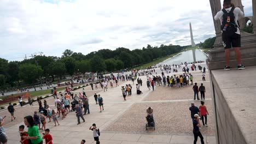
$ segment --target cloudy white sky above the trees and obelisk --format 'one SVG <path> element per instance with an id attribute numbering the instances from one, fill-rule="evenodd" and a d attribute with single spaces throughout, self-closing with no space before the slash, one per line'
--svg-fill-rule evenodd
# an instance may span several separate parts
<path id="1" fill-rule="evenodd" d="M 242 3 L 252 15 L 252 1 Z M 1 0 L 0 57 L 189 45 L 189 22 L 195 43 L 214 37 L 208 0 Z"/>

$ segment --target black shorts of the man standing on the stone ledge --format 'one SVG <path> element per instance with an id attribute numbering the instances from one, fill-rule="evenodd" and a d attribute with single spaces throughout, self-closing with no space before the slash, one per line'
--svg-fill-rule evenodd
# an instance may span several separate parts
<path id="1" fill-rule="evenodd" d="M 230 49 L 231 47 L 241 47 L 241 35 L 237 33 L 222 33 L 222 41 L 224 49 Z"/>

